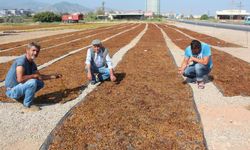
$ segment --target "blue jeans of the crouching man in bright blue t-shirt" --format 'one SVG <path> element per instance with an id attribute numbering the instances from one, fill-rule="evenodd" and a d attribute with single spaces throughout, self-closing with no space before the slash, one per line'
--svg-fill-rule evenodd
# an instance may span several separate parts
<path id="1" fill-rule="evenodd" d="M 197 81 L 203 81 L 205 75 L 208 75 L 211 69 L 207 65 L 193 64 L 188 66 L 183 73 L 183 76 L 188 78 L 196 78 Z"/>

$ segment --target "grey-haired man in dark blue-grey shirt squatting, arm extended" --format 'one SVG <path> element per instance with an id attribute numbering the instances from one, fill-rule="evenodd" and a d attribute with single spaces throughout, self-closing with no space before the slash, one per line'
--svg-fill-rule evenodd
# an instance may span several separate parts
<path id="1" fill-rule="evenodd" d="M 28 44 L 26 54 L 17 58 L 9 69 L 5 78 L 6 95 L 12 99 L 24 98 L 26 110 L 38 111 L 40 107 L 32 105 L 35 93 L 43 88 L 43 80 L 61 77 L 60 74 L 42 75 L 34 62 L 40 52 L 40 45 L 32 42 Z"/>

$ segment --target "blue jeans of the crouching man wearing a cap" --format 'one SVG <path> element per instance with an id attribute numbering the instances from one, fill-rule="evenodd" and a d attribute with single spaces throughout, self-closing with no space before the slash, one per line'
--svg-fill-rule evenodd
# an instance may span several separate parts
<path id="1" fill-rule="evenodd" d="M 87 69 L 86 69 L 87 71 Z M 92 75 L 92 81 L 96 81 L 96 78 L 95 78 L 95 75 L 98 73 L 98 78 L 100 81 L 104 81 L 106 79 L 108 79 L 110 77 L 110 70 L 107 68 L 107 67 L 100 67 L 100 68 L 97 68 L 97 67 L 92 67 L 91 66 L 91 75 Z"/>

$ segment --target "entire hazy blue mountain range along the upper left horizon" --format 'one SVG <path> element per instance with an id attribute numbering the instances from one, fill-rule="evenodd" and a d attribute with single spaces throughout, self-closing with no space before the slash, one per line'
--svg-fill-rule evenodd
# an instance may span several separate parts
<path id="1" fill-rule="evenodd" d="M 0 0 L 1 9 L 31 9 L 34 12 L 52 11 L 56 13 L 89 12 L 91 9 L 70 2 L 55 4 L 42 3 L 35 0 Z"/>

